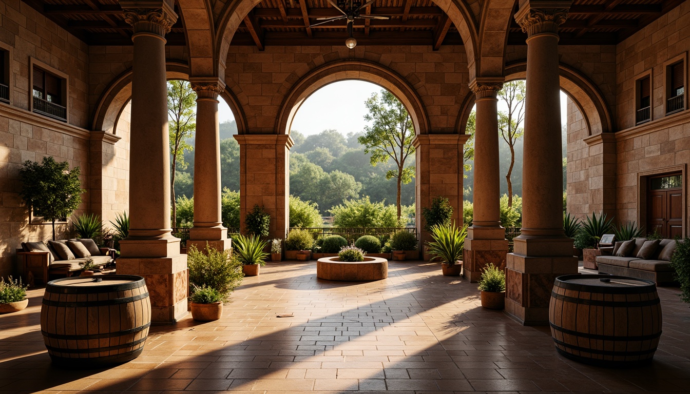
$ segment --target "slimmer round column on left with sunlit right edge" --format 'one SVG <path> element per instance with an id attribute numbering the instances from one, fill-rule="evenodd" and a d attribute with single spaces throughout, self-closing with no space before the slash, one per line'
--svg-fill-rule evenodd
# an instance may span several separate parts
<path id="1" fill-rule="evenodd" d="M 194 226 L 188 245 L 199 250 L 206 243 L 218 250 L 230 248 L 228 229 L 221 219 L 220 136 L 218 95 L 224 83 L 218 78 L 190 78 L 197 92 L 197 130 L 194 155 Z"/>

